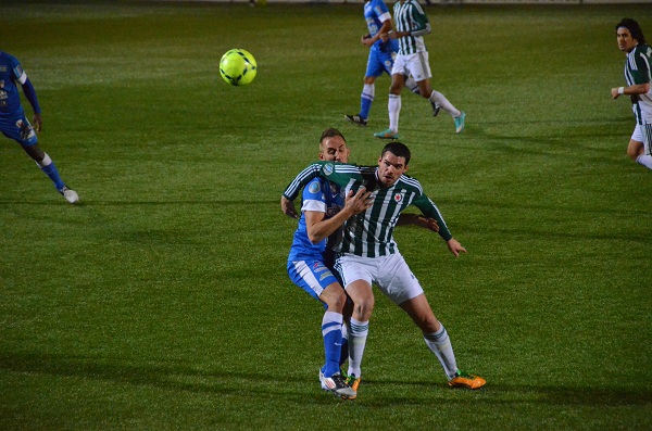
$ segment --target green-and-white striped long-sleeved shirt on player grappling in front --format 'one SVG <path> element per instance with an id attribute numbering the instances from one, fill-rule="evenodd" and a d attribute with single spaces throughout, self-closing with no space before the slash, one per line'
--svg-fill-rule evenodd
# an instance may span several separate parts
<path id="1" fill-rule="evenodd" d="M 398 251 L 393 229 L 399 216 L 410 205 L 415 205 L 426 217 L 439 225 L 439 234 L 446 241 L 453 238 L 439 208 L 424 193 L 421 183 L 408 175 L 402 175 L 391 187 L 378 182 L 377 166 L 356 166 L 334 162 L 317 162 L 303 169 L 286 188 L 284 195 L 294 200 L 299 191 L 315 177 L 322 177 L 342 187 L 346 193 L 365 187 L 373 191 L 373 205 L 347 220 L 336 252 L 352 253 L 363 257 L 378 257 Z"/>

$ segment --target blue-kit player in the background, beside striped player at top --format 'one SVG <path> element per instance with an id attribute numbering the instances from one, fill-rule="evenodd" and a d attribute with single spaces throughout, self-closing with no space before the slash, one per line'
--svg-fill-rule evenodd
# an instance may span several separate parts
<path id="1" fill-rule="evenodd" d="M 367 24 L 368 34 L 361 38 L 362 45 L 369 49 L 367 58 L 367 68 L 364 76 L 364 86 L 360 96 L 360 112 L 355 115 L 344 115 L 344 118 L 360 126 L 366 126 L 372 109 L 372 102 L 376 94 L 376 78 L 387 73 L 391 75 L 393 59 L 399 51 L 399 42 L 396 39 L 383 41 L 381 34 L 391 30 L 391 15 L 389 9 L 383 0 L 366 0 L 364 3 L 364 20 Z M 411 77 L 405 81 L 408 87 L 415 94 L 419 94 L 416 81 Z M 431 102 L 432 115 L 439 113 L 439 105 Z"/>

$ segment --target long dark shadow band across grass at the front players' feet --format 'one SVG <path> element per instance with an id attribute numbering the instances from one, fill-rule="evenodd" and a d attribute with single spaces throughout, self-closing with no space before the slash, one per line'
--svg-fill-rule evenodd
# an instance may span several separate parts
<path id="1" fill-rule="evenodd" d="M 150 386 L 221 396 L 242 396 L 248 400 L 278 396 L 300 404 L 323 404 L 328 396 L 315 392 L 316 380 L 279 381 L 278 376 L 261 372 L 198 370 L 185 364 L 121 364 L 121 359 L 75 357 L 46 354 L 0 353 L 0 369 L 27 375 L 48 375 L 85 380 L 111 381 L 134 386 Z M 283 384 L 279 384 L 283 383 Z M 87 382 L 84 384 L 88 384 Z M 442 382 L 406 380 L 365 380 L 360 390 L 367 392 L 364 403 L 431 404 L 432 398 L 446 404 L 548 404 L 551 406 L 642 406 L 652 402 L 652 391 L 611 388 L 563 388 L 515 385 L 489 381 L 478 391 L 453 390 Z M 414 394 L 414 395 L 412 395 Z M 450 395 L 449 395 L 450 394 Z"/>

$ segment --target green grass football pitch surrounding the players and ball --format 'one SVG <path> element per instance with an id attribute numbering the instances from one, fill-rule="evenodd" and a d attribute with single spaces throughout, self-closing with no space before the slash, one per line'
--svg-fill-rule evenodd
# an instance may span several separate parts
<path id="1" fill-rule="evenodd" d="M 52 2 L 53 3 L 53 2 Z M 396 232 L 446 324 L 452 391 L 380 294 L 359 398 L 319 390 L 322 309 L 285 271 L 285 186 L 340 128 L 375 163 L 389 78 L 360 103 L 360 5 L 3 2 L 0 49 L 34 83 L 71 206 L 0 145 L 0 429 L 652 429 L 652 172 L 614 25 L 652 7 L 431 7 L 434 87 L 467 129 L 403 96 L 401 140 L 469 254 Z M 223 52 L 252 52 L 244 88 Z"/>

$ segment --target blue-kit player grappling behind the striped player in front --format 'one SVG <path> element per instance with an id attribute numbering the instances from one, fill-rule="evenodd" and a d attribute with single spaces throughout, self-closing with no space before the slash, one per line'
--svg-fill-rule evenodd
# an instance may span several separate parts
<path id="1" fill-rule="evenodd" d="M 326 129 L 322 134 L 319 159 L 331 162 L 349 160 L 347 142 L 338 130 Z M 288 275 L 294 284 L 321 301 L 326 308 L 322 319 L 326 358 L 319 370 L 322 388 L 342 398 L 353 400 L 356 392 L 340 373 L 347 294 L 330 270 L 334 253 L 328 242 L 330 236 L 337 237 L 340 226 L 349 217 L 368 207 L 368 193 L 361 189 L 344 199 L 339 186 L 315 178 L 303 189 L 302 201 L 299 227 L 288 256 Z"/>

